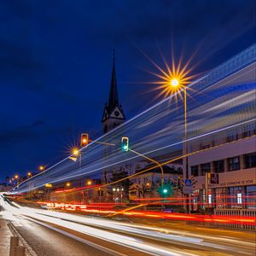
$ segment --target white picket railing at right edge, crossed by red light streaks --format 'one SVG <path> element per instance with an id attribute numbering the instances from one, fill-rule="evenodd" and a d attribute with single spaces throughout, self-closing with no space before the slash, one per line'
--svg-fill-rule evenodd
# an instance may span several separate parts
<path id="1" fill-rule="evenodd" d="M 226 216 L 226 220 L 228 220 L 225 223 L 215 223 L 215 227 L 223 227 L 223 228 L 229 228 L 229 229 L 235 229 L 235 230 L 256 230 L 255 221 L 250 224 L 249 222 L 236 223 L 236 221 L 233 221 L 233 218 L 250 218 L 251 220 L 256 218 L 256 209 L 215 209 L 214 210 L 215 215 L 221 216 L 224 218 Z M 230 220 L 230 222 L 229 222 Z"/>

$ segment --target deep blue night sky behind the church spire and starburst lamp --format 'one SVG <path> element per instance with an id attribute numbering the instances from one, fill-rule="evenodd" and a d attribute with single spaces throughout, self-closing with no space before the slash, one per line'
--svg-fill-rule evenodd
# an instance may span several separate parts
<path id="1" fill-rule="evenodd" d="M 112 49 L 127 118 L 154 103 L 143 81 L 183 48 L 195 73 L 256 42 L 254 0 L 0 3 L 0 182 L 67 155 L 80 132 L 102 133 Z M 132 103 L 131 103 L 132 102 Z"/>

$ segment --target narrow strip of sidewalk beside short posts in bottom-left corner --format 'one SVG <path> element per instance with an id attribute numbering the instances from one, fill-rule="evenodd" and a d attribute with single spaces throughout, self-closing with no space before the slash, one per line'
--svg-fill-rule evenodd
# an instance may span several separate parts
<path id="1" fill-rule="evenodd" d="M 5 219 L 0 215 L 0 256 L 9 256 L 9 241 L 12 236 Z"/>

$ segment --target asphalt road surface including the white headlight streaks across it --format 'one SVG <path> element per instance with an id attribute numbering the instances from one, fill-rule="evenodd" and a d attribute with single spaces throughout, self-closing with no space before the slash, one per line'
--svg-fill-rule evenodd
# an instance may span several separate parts
<path id="1" fill-rule="evenodd" d="M 255 255 L 255 241 L 247 232 L 223 236 L 209 229 L 127 224 L 0 203 L 5 218 L 38 255 Z"/>

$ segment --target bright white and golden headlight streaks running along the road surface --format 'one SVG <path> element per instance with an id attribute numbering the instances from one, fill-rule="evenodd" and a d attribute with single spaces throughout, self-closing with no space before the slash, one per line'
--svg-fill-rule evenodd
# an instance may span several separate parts
<path id="1" fill-rule="evenodd" d="M 198 255 L 198 250 L 227 254 L 236 253 L 239 250 L 241 254 L 252 254 L 254 248 L 253 241 L 239 241 L 227 236 L 199 234 L 196 231 L 150 227 L 143 224 L 128 224 L 102 218 L 88 218 L 65 212 L 20 207 L 16 204 L 13 207 L 8 202 L 3 201 L 2 196 L 0 196 L 0 204 L 4 208 L 4 212 L 8 212 L 5 216 L 13 218 L 14 221 L 20 222 L 20 218 L 25 217 L 41 224 L 49 224 L 49 226 L 54 227 L 57 225 L 58 229 L 75 230 L 113 244 L 131 247 L 153 255 Z M 147 212 L 146 214 L 152 218 L 159 215 L 159 213 L 151 213 Z M 182 214 L 176 215 L 180 218 L 183 217 Z M 194 217 L 190 216 L 189 218 L 193 219 Z M 207 216 L 203 218 L 207 220 Z M 183 249 L 184 245 L 190 248 L 189 253 Z"/>

